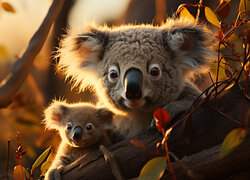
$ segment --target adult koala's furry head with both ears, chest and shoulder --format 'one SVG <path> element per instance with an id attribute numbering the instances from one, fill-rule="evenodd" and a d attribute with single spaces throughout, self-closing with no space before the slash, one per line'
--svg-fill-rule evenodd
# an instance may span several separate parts
<path id="1" fill-rule="evenodd" d="M 125 112 L 114 123 L 128 138 L 150 127 L 155 109 L 174 118 L 190 107 L 200 91 L 188 77 L 208 69 L 213 40 L 202 25 L 173 18 L 161 26 L 72 30 L 61 41 L 58 68 L 81 90 L 92 87 L 103 104 Z"/>

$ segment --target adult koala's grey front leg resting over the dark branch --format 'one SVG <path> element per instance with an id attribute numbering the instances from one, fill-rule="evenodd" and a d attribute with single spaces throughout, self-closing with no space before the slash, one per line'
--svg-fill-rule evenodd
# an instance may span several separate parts
<path id="1" fill-rule="evenodd" d="M 191 84 L 187 84 L 175 101 L 165 105 L 163 109 L 167 110 L 171 117 L 171 123 L 169 123 L 167 127 L 174 123 L 174 120 L 176 120 L 178 115 L 186 112 L 200 94 L 201 92 L 196 87 Z M 150 125 L 150 131 L 154 132 L 155 130 L 156 125 L 155 120 L 153 119 Z"/>

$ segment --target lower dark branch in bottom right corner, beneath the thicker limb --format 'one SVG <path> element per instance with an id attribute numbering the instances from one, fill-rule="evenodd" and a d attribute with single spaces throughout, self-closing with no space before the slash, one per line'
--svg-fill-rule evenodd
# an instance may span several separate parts
<path id="1" fill-rule="evenodd" d="M 192 172 L 195 179 L 224 179 L 235 176 L 241 178 L 242 173 L 249 174 L 250 170 L 250 134 L 229 155 L 219 159 L 221 145 L 203 150 L 199 153 L 185 156 L 181 162 Z M 187 179 L 187 175 L 177 163 L 172 163 L 177 179 Z M 164 179 L 171 179 L 167 172 Z"/>

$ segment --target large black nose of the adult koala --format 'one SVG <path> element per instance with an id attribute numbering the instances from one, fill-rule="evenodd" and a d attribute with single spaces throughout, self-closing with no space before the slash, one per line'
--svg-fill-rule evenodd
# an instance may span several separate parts
<path id="1" fill-rule="evenodd" d="M 140 99 L 142 97 L 142 72 L 131 68 L 125 73 L 124 85 L 127 99 Z"/>

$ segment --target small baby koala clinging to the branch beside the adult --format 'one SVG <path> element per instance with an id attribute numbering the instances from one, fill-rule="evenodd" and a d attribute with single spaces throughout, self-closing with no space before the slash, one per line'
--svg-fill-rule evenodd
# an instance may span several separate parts
<path id="1" fill-rule="evenodd" d="M 67 104 L 54 101 L 45 110 L 47 129 L 60 133 L 62 142 L 45 179 L 61 179 L 64 166 L 82 155 L 94 151 L 101 144 L 111 144 L 105 129 L 111 126 L 113 113 L 89 103 Z"/>

